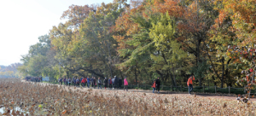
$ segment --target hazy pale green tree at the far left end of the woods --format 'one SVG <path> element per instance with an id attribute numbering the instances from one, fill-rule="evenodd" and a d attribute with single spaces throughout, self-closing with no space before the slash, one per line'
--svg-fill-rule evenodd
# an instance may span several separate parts
<path id="1" fill-rule="evenodd" d="M 23 65 L 18 70 L 25 74 L 24 76 L 51 76 L 55 78 L 55 59 L 50 55 L 54 50 L 51 48 L 49 35 L 40 36 L 39 43 L 30 47 L 29 53 L 23 55 L 21 61 Z"/>

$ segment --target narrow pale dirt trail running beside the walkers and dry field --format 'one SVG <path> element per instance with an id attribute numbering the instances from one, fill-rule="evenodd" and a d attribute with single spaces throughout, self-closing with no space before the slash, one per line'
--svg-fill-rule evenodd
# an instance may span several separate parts
<path id="1" fill-rule="evenodd" d="M 23 81 L 22 82 L 26 82 Z M 27 83 L 27 82 L 26 82 Z M 44 84 L 44 85 L 59 85 L 59 84 L 48 84 L 48 83 L 37 83 L 37 84 Z M 60 86 L 60 85 L 59 85 Z M 67 87 L 66 85 L 61 85 L 63 88 L 64 86 Z M 69 88 L 71 90 L 82 90 L 82 91 L 87 91 L 89 90 L 89 88 L 84 87 L 84 88 L 80 88 L 80 87 L 74 87 L 74 86 L 69 86 Z M 75 89 L 76 88 L 76 89 Z M 90 87 L 91 90 L 99 90 L 101 91 L 101 89 L 93 89 L 92 87 Z M 102 87 L 102 90 L 105 90 L 104 87 Z M 108 88 L 106 90 L 109 90 Z M 113 90 L 113 91 L 124 91 L 123 89 L 120 90 Z M 127 92 L 141 92 L 141 93 L 152 93 L 152 90 L 128 90 Z M 157 91 L 154 91 L 155 94 L 158 94 Z M 153 93 L 152 93 L 153 94 Z M 220 95 L 220 94 L 203 94 L 203 93 L 193 93 L 191 95 L 188 94 L 188 92 L 176 92 L 176 91 L 165 91 L 165 90 L 160 90 L 160 94 L 168 94 L 168 95 L 175 95 L 175 96 L 197 96 L 197 97 L 210 97 L 210 98 L 221 98 L 221 99 L 227 99 L 227 100 L 236 100 L 236 95 Z M 256 102 L 256 98 L 251 98 L 250 101 Z"/>

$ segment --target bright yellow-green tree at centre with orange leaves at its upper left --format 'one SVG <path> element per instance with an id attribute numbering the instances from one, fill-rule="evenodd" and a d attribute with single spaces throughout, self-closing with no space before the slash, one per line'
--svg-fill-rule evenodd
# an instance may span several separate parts
<path id="1" fill-rule="evenodd" d="M 153 73 L 158 73 L 164 82 L 171 79 L 176 85 L 175 72 L 182 68 L 174 62 L 183 60 L 186 54 L 179 49 L 181 44 L 172 40 L 177 34 L 175 20 L 171 20 L 169 14 L 154 13 L 151 10 L 154 7 L 145 4 L 127 11 L 116 22 L 118 34 L 114 38 L 119 42 L 119 55 L 123 61 L 119 68 L 126 73 L 133 71 L 136 80 L 137 72 L 148 75 L 150 80 Z M 181 54 L 177 55 L 176 51 Z"/>

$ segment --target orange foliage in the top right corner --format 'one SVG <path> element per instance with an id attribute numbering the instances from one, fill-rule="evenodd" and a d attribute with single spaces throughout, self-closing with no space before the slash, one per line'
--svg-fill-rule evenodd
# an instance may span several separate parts
<path id="1" fill-rule="evenodd" d="M 240 45 L 256 43 L 256 1 L 255 0 L 224 0 L 224 10 L 230 12 L 230 17 L 233 20 L 237 38 L 242 38 Z M 244 26 L 247 24 L 247 26 Z"/>

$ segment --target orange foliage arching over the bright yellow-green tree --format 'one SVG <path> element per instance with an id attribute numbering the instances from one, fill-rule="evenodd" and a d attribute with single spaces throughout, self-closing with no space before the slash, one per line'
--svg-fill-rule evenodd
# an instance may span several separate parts
<path id="1" fill-rule="evenodd" d="M 118 49 L 125 49 L 129 45 L 125 44 L 125 41 L 132 39 L 131 34 L 137 33 L 139 27 L 136 23 L 130 20 L 131 15 L 135 13 L 140 13 L 144 18 L 148 18 L 148 14 L 145 14 L 146 7 L 149 7 L 153 13 L 163 13 L 168 14 L 177 20 L 177 32 L 182 35 L 179 36 L 177 41 L 185 43 L 187 37 L 190 33 L 204 31 L 207 27 L 205 23 L 205 15 L 198 14 L 196 3 L 191 3 L 188 7 L 180 5 L 179 0 L 154 0 L 154 3 L 142 3 L 134 9 L 131 9 L 130 12 L 126 12 L 118 20 L 116 20 L 115 32 L 122 33 L 116 36 L 113 36 L 119 43 Z M 223 14 L 222 17 L 225 15 Z M 188 46 L 188 44 L 183 44 Z"/>

